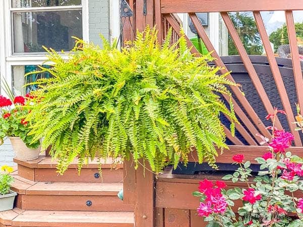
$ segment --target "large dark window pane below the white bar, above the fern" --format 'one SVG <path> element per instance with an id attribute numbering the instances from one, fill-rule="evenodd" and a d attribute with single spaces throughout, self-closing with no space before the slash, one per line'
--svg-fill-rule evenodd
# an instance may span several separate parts
<path id="1" fill-rule="evenodd" d="M 82 38 L 82 11 L 13 13 L 14 52 L 43 52 L 42 45 L 57 51 L 71 50 L 72 36 Z"/>

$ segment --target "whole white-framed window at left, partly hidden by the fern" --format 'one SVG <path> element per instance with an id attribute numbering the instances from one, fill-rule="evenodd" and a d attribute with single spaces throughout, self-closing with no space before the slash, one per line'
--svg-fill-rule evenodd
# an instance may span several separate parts
<path id="1" fill-rule="evenodd" d="M 24 77 L 46 60 L 43 46 L 61 53 L 73 48 L 73 36 L 89 40 L 88 17 L 88 0 L 0 0 L 0 73 L 16 95 L 36 89 L 27 82 L 50 76 Z"/>

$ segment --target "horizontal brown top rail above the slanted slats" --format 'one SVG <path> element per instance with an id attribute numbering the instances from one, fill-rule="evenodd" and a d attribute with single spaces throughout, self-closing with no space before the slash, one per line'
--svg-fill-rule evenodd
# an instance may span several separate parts
<path id="1" fill-rule="evenodd" d="M 303 10 L 302 0 L 162 0 L 161 12 L 207 13 L 207 12 L 244 12 Z"/>

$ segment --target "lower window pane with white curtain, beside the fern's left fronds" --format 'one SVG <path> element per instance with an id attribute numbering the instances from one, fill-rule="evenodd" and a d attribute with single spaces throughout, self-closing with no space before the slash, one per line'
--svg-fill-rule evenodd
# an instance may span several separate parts
<path id="1" fill-rule="evenodd" d="M 49 68 L 50 66 L 43 65 L 44 68 Z M 41 78 L 50 78 L 52 75 L 48 72 L 36 73 L 24 77 L 25 74 L 40 71 L 40 68 L 36 65 L 27 66 L 13 66 L 13 92 L 15 95 L 25 95 L 31 91 L 37 90 L 37 85 L 28 85 L 24 87 L 25 84 L 32 83 Z"/>

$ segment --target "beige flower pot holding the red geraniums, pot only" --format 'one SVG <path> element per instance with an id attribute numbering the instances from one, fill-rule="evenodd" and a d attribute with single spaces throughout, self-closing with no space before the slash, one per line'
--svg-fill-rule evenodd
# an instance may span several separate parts
<path id="1" fill-rule="evenodd" d="M 16 158 L 20 161 L 30 161 L 38 158 L 41 146 L 36 149 L 28 148 L 20 137 L 9 137 L 16 153 Z"/>

